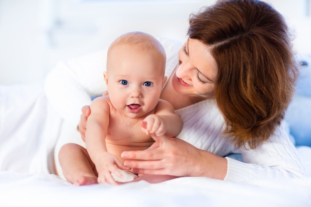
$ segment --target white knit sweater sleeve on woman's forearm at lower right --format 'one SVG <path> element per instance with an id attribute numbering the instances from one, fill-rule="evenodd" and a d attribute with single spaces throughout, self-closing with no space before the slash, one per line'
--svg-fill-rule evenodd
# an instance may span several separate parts
<path id="1" fill-rule="evenodd" d="M 284 130 L 284 124 L 281 124 L 274 135 L 256 149 L 239 148 L 238 152 L 242 154 L 244 162 L 226 157 L 227 181 L 248 182 L 253 179 L 308 177 L 295 146 Z"/>

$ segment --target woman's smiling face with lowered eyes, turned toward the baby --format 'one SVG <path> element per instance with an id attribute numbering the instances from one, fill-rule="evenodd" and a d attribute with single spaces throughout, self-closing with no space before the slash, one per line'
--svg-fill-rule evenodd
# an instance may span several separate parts
<path id="1" fill-rule="evenodd" d="M 210 47 L 188 38 L 179 50 L 179 66 L 172 75 L 172 86 L 178 93 L 212 98 L 217 76 L 217 64 Z"/>

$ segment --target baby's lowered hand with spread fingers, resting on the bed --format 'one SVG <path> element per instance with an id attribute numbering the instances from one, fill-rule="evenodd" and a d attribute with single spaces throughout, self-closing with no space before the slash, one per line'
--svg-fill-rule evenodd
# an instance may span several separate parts
<path id="1" fill-rule="evenodd" d="M 117 182 L 113 179 L 112 174 L 115 177 L 123 178 L 120 169 L 127 169 L 124 167 L 117 157 L 110 154 L 109 152 L 105 152 L 101 161 L 96 164 L 96 170 L 98 172 L 98 183 L 109 183 L 112 185 L 118 185 Z"/>

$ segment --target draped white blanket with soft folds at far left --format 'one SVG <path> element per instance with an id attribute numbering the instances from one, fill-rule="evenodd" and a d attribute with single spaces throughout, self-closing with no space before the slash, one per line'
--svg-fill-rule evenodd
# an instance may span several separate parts
<path id="1" fill-rule="evenodd" d="M 43 87 L 0 86 L 0 170 L 53 172 L 54 145 L 62 119 Z"/>

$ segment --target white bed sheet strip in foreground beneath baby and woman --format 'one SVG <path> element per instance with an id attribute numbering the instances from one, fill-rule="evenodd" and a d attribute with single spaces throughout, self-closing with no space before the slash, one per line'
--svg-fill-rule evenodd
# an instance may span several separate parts
<path id="1" fill-rule="evenodd" d="M 244 184 L 187 177 L 78 187 L 55 175 L 0 172 L 0 195 L 1 207 L 310 207 L 311 179 Z"/>

